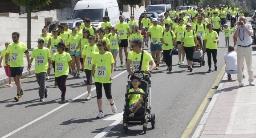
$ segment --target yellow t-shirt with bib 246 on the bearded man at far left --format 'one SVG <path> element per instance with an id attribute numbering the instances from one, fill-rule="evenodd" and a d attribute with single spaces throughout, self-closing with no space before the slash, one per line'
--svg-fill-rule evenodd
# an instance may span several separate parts
<path id="1" fill-rule="evenodd" d="M 23 53 L 27 49 L 22 42 L 9 44 L 6 53 L 10 55 L 10 67 L 24 67 Z"/>

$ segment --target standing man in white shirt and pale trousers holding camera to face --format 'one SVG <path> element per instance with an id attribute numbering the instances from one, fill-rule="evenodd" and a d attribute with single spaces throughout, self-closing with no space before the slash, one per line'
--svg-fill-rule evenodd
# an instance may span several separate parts
<path id="1" fill-rule="evenodd" d="M 244 86 L 244 80 L 243 80 L 243 63 L 244 58 L 247 66 L 248 71 L 248 81 L 249 85 L 254 86 L 254 75 L 252 71 L 252 25 L 246 24 L 246 18 L 244 16 L 241 16 L 240 21 L 237 22 L 237 26 L 234 29 L 235 37 L 237 38 L 237 80 L 239 82 L 239 86 Z"/>

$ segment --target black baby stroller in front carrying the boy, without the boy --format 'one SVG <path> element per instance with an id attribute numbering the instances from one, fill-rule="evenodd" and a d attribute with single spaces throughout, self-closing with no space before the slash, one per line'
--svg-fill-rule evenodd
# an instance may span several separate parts
<path id="1" fill-rule="evenodd" d="M 124 106 L 124 113 L 123 113 L 123 129 L 124 132 L 127 133 L 128 131 L 128 125 L 143 125 L 144 133 L 146 133 L 147 130 L 147 124 L 148 122 L 151 122 L 152 129 L 155 128 L 155 115 L 151 114 L 150 110 L 150 97 L 151 97 L 151 75 L 148 75 L 148 78 L 145 80 L 145 76 L 143 75 L 144 71 L 136 71 L 134 75 L 143 76 L 141 79 L 141 84 L 139 85 L 139 88 L 141 88 L 145 93 L 142 92 L 130 92 L 130 94 L 141 94 L 144 95 L 144 103 L 142 103 L 142 107 L 138 110 L 137 113 L 134 114 L 134 117 L 129 117 L 129 114 L 131 111 L 129 110 L 129 102 L 130 99 L 128 97 L 128 91 L 129 89 L 133 88 L 133 85 L 130 81 L 130 75 L 128 75 L 128 80 L 126 83 L 126 95 L 125 95 L 125 106 Z"/>

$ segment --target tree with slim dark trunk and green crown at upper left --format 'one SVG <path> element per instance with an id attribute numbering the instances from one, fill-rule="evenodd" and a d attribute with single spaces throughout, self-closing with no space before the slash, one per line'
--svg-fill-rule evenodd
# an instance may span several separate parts
<path id="1" fill-rule="evenodd" d="M 28 22 L 28 32 L 27 32 L 27 47 L 31 49 L 31 12 L 37 9 L 49 5 L 50 0 L 12 0 L 16 5 L 26 8 L 27 11 L 27 22 Z"/>

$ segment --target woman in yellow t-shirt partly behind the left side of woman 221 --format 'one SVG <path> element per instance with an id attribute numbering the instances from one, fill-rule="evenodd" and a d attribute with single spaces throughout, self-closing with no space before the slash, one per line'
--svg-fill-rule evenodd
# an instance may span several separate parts
<path id="1" fill-rule="evenodd" d="M 85 100 L 90 100 L 92 99 L 91 96 L 91 88 L 92 85 L 89 83 L 90 76 L 91 76 L 91 70 L 92 70 L 92 58 L 93 55 L 98 52 L 98 47 L 96 46 L 96 42 L 98 41 L 98 38 L 94 35 L 89 35 L 88 36 L 89 44 L 85 45 L 84 50 L 82 52 L 82 59 L 84 63 L 84 68 L 85 68 L 85 75 L 86 75 L 86 87 L 88 91 L 88 95 Z"/>

